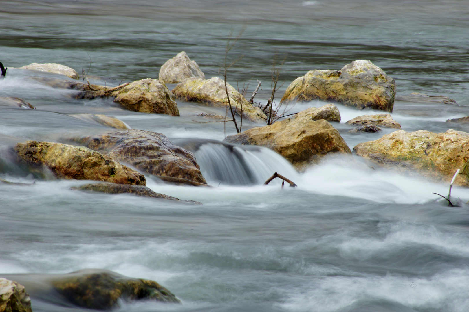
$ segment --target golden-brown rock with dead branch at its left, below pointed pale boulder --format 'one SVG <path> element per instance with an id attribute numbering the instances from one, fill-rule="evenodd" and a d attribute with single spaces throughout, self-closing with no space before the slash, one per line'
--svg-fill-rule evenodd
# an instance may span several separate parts
<path id="1" fill-rule="evenodd" d="M 159 80 L 151 78 L 137 80 L 114 91 L 111 95 L 115 97 L 114 102 L 129 110 L 179 116 L 174 95 Z"/>

